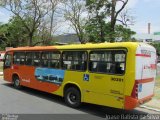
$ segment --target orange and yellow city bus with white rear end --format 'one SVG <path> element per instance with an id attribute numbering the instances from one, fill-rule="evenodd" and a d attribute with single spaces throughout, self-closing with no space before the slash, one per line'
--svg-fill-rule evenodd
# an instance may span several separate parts
<path id="1" fill-rule="evenodd" d="M 62 96 L 74 108 L 131 110 L 152 99 L 156 62 L 155 48 L 138 42 L 18 47 L 5 54 L 4 80 Z"/>

